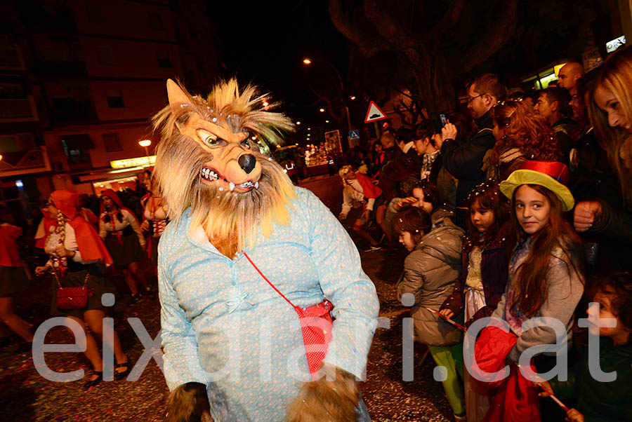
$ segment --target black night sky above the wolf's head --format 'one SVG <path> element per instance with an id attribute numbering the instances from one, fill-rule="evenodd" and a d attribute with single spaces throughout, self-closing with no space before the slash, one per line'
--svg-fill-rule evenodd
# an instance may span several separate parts
<path id="1" fill-rule="evenodd" d="M 213 1 L 208 7 L 218 27 L 223 76 L 261 86 L 283 103 L 280 110 L 306 124 L 322 120 L 308 86 L 319 72 L 331 79 L 333 71 L 317 60 L 334 64 L 343 80 L 348 67 L 348 41 L 331 23 L 327 1 Z"/>

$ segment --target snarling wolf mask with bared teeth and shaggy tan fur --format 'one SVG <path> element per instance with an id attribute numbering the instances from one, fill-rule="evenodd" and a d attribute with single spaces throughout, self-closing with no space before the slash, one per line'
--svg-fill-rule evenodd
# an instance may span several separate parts
<path id="1" fill-rule="evenodd" d="M 263 236 L 274 224 L 289 223 L 294 189 L 254 139 L 277 144 L 289 118 L 265 111 L 267 95 L 237 81 L 219 83 L 206 100 L 167 81 L 169 105 L 154 116 L 161 134 L 154 172 L 169 215 L 179 219 L 190 208 L 190 231 L 204 229 L 209 241 L 229 258 Z"/>

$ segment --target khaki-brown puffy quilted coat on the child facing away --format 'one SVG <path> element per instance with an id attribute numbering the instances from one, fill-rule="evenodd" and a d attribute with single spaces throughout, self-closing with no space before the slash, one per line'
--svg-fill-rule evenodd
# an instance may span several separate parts
<path id="1" fill-rule="evenodd" d="M 437 219 L 404 261 L 404 276 L 397 285 L 397 298 L 412 293 L 415 340 L 428 346 L 451 346 L 461 341 L 461 332 L 428 311 L 439 307 L 454 290 L 461 272 L 463 231 L 448 217 Z"/>

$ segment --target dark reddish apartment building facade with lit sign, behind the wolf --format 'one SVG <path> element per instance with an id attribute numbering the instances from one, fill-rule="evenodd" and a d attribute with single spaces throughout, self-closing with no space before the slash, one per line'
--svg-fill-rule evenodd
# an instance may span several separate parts
<path id="1" fill-rule="evenodd" d="M 203 1 L 15 0 L 0 13 L 15 16 L 0 34 L 0 200 L 13 208 L 117 189 L 139 170 L 131 159 L 152 155 L 166 79 L 218 77 Z"/>

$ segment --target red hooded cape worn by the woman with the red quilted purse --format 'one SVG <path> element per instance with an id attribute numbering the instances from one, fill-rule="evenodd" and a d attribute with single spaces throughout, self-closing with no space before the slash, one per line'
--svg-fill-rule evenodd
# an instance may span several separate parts
<path id="1" fill-rule="evenodd" d="M 51 198 L 53 198 L 55 207 L 61 211 L 67 218 L 68 224 L 74 229 L 74 236 L 77 238 L 77 247 L 79 247 L 79 252 L 81 252 L 81 258 L 85 261 L 98 259 L 103 264 L 112 264 L 114 261 L 110 257 L 110 252 L 107 252 L 103 240 L 101 240 L 94 227 L 79 214 L 80 194 L 70 189 L 62 189 L 51 193 Z"/>

